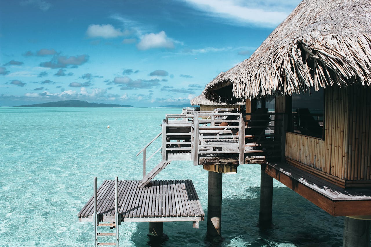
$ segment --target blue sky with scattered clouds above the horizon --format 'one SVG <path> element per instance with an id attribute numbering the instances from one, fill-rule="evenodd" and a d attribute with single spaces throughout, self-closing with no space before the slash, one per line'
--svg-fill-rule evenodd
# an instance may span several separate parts
<path id="1" fill-rule="evenodd" d="M 0 106 L 188 103 L 299 2 L 0 0 Z"/>

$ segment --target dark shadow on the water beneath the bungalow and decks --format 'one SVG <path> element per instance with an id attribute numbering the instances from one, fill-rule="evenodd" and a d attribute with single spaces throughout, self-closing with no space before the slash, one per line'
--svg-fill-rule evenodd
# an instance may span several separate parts
<path id="1" fill-rule="evenodd" d="M 226 185 L 224 185 L 226 186 Z M 200 228 L 192 222 L 165 222 L 165 242 L 148 242 L 148 223 L 138 223 L 131 236 L 135 246 L 341 246 L 343 217 L 332 217 L 287 187 L 273 188 L 273 225 L 260 228 L 260 187 L 247 187 L 246 195 L 223 198 L 221 231 L 223 241 L 206 237 L 206 219 Z M 200 198 L 207 200 L 207 198 Z"/>

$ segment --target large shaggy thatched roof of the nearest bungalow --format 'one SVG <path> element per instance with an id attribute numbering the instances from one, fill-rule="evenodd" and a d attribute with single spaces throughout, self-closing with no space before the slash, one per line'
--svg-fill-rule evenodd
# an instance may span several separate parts
<path id="1" fill-rule="evenodd" d="M 303 0 L 249 59 L 203 93 L 233 102 L 352 83 L 371 83 L 371 1 Z"/>

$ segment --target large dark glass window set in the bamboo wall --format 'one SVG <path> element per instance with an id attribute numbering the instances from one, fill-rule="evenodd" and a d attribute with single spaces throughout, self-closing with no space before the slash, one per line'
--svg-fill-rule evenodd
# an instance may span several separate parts
<path id="1" fill-rule="evenodd" d="M 324 136 L 324 90 L 292 95 L 291 131 L 303 135 Z"/>

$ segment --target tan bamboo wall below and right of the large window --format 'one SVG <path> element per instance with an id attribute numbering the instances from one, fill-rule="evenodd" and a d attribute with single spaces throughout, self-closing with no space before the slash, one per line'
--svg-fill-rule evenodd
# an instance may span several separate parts
<path id="1" fill-rule="evenodd" d="M 343 180 L 370 180 L 371 88 L 325 90 L 324 140 L 286 133 L 285 156 Z"/>

